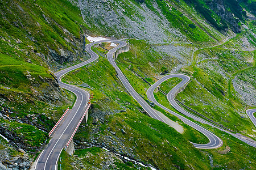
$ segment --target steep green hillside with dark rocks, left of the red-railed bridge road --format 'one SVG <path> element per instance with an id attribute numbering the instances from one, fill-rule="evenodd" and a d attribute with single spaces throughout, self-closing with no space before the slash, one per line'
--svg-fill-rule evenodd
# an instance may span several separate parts
<path id="1" fill-rule="evenodd" d="M 68 1 L 0 1 L 0 132 L 11 144 L 1 148 L 1 162 L 19 148 L 34 157 L 72 106 L 73 94 L 60 89 L 50 67 L 83 59 L 76 54 L 84 27 L 79 14 Z M 29 156 L 20 158 L 31 163 Z"/>

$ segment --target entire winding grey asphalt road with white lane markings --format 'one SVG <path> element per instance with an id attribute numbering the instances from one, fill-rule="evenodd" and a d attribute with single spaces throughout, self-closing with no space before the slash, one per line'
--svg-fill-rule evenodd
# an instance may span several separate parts
<path id="1" fill-rule="evenodd" d="M 55 76 L 60 84 L 60 87 L 65 88 L 71 92 L 73 92 L 76 95 L 76 102 L 73 105 L 73 108 L 65 114 L 64 118 L 61 120 L 59 124 L 59 128 L 57 128 L 53 135 L 51 140 L 49 141 L 48 145 L 46 148 L 41 152 L 41 154 L 38 156 L 38 159 L 36 160 L 35 163 L 35 169 L 40 169 L 40 170 L 48 170 L 48 169 L 57 169 L 57 162 L 59 160 L 60 152 L 61 150 L 65 147 L 65 144 L 67 143 L 68 139 L 71 137 L 73 131 L 75 130 L 76 126 L 79 124 L 79 121 L 81 120 L 82 115 L 84 114 L 86 108 L 88 107 L 88 101 L 89 101 L 89 93 L 86 92 L 85 90 L 82 90 L 79 87 L 73 86 L 71 84 L 66 84 L 61 82 L 61 78 L 65 75 L 68 74 L 70 71 L 78 69 L 79 67 L 85 66 L 93 61 L 95 61 L 98 58 L 98 55 L 93 52 L 91 49 L 93 45 L 101 43 L 101 42 L 117 42 L 119 45 L 116 46 L 115 48 L 109 50 L 107 54 L 107 58 L 112 64 L 112 66 L 115 68 L 115 71 L 117 71 L 117 76 L 121 80 L 123 86 L 125 86 L 126 90 L 129 91 L 131 96 L 134 97 L 135 100 L 138 101 L 138 103 L 142 106 L 142 108 L 148 113 L 148 115 L 152 118 L 155 118 L 156 120 L 162 121 L 166 124 L 168 124 L 168 118 L 164 116 L 162 113 L 156 113 L 154 109 L 148 105 L 144 99 L 134 90 L 134 88 L 131 86 L 129 81 L 126 79 L 125 75 L 123 75 L 122 71 L 119 69 L 117 64 L 114 61 L 114 53 L 117 51 L 117 49 L 122 48 L 127 45 L 126 42 L 121 41 L 121 40 L 101 40 L 101 41 L 96 41 L 92 42 L 88 45 L 86 45 L 85 49 L 86 51 L 90 54 L 90 59 L 87 61 L 81 62 L 75 66 L 68 67 L 67 69 L 61 70 L 57 73 L 55 73 Z M 154 98 L 154 90 L 157 86 L 159 86 L 162 82 L 164 82 L 167 79 L 173 78 L 173 77 L 178 77 L 181 78 L 182 81 L 177 84 L 167 95 L 168 100 L 170 103 L 174 106 L 174 108 L 177 109 L 177 111 L 185 114 L 188 117 L 193 118 L 196 121 L 199 121 L 203 124 L 208 124 L 210 126 L 213 126 L 214 128 L 220 129 L 222 131 L 225 131 L 226 133 L 232 134 L 229 131 L 223 130 L 215 125 L 210 124 L 209 122 L 194 116 L 193 114 L 190 114 L 186 111 L 184 111 L 183 108 L 181 108 L 176 101 L 174 100 L 174 95 L 179 88 L 183 87 L 186 83 L 189 81 L 189 76 L 187 75 L 182 75 L 182 74 L 170 74 L 166 75 L 163 78 L 159 79 L 158 82 L 153 84 L 150 88 L 147 90 L 147 96 L 148 99 L 153 101 L 155 104 L 159 105 L 159 107 L 165 109 L 167 112 L 170 112 L 171 114 L 174 114 L 175 116 L 179 117 L 182 121 L 184 121 L 185 124 L 188 124 L 192 128 L 195 128 L 196 130 L 200 131 L 204 135 L 206 135 L 209 139 L 209 143 L 201 145 L 197 143 L 193 143 L 193 145 L 197 148 L 218 148 L 222 146 L 222 140 L 218 138 L 216 135 L 214 135 L 212 132 L 209 130 L 203 128 L 202 126 L 196 124 L 195 122 L 192 122 L 188 120 L 187 118 L 181 116 L 180 114 L 177 114 L 175 112 L 172 112 L 170 109 L 164 107 L 163 105 L 159 104 L 158 101 L 155 100 Z M 250 109 L 248 110 L 247 114 L 252 115 L 253 118 L 251 120 L 254 122 L 255 125 L 255 117 L 253 116 L 253 112 L 255 112 L 256 109 Z M 248 143 L 251 146 L 256 147 L 256 144 L 254 143 L 255 141 L 247 141 L 246 139 L 236 136 L 236 134 L 232 134 L 234 137 L 241 139 L 241 141 Z"/>

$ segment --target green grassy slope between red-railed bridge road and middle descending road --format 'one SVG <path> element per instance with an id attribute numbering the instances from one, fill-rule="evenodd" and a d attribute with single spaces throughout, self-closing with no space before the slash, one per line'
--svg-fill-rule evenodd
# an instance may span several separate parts
<path id="1" fill-rule="evenodd" d="M 171 167 L 174 168 L 192 166 L 209 169 L 207 158 L 193 148 L 185 138 L 187 135 L 179 134 L 168 125 L 139 112 L 141 106 L 126 93 L 115 76 L 114 68 L 105 58 L 100 57 L 91 66 L 82 67 L 63 80 L 74 84 L 86 82 L 94 89 L 91 91 L 94 109 L 90 113 L 88 126 L 81 125 L 80 132 L 76 133 L 77 147 L 82 148 L 91 143 L 101 145 L 112 152 L 150 163 L 160 169 L 170 168 L 167 162 L 172 163 Z M 126 134 L 122 134 L 121 129 Z M 193 155 L 197 155 L 196 158 Z M 88 167 L 99 166 L 96 160 L 92 163 L 86 159 L 80 162 Z"/>

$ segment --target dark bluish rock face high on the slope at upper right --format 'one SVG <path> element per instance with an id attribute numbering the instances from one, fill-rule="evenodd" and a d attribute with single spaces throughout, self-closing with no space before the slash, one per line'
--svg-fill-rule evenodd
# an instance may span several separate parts
<path id="1" fill-rule="evenodd" d="M 227 10 L 227 6 L 225 5 L 224 1 L 212 0 L 212 2 L 210 2 L 208 5 L 211 8 L 211 10 L 216 12 L 216 14 L 221 17 L 221 19 L 229 23 L 233 32 L 235 33 L 241 32 L 240 25 L 238 25 L 239 20 L 235 19 L 233 14 Z M 237 7 L 238 7 L 238 10 L 242 11 L 241 6 L 237 6 Z"/>

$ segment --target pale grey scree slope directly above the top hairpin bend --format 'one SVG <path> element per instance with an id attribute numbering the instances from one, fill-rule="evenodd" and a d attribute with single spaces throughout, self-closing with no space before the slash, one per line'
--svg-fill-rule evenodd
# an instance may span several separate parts
<path id="1" fill-rule="evenodd" d="M 141 8 L 134 3 L 130 3 L 130 8 L 135 11 L 134 15 L 127 15 L 123 9 L 123 3 L 113 0 L 108 1 L 73 1 L 80 10 L 85 22 L 92 28 L 100 31 L 108 30 L 109 33 L 119 37 L 130 37 L 143 39 L 152 43 L 164 42 L 186 42 L 187 39 L 179 30 L 170 27 L 170 22 L 160 12 L 157 5 L 154 7 L 158 10 L 159 15 L 152 12 L 146 5 L 141 4 Z M 89 20 L 93 18 L 93 20 Z"/>

